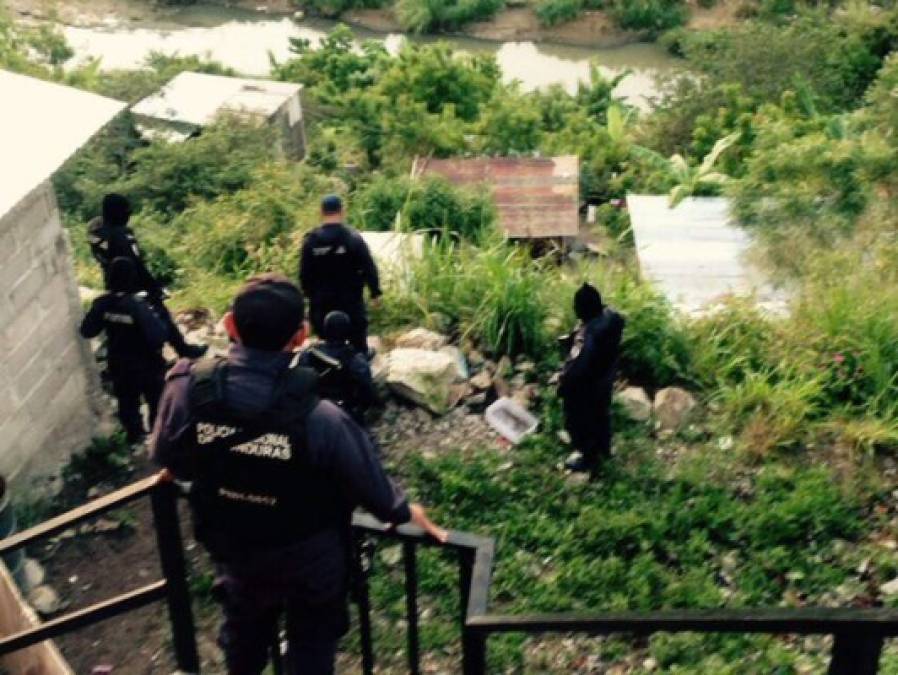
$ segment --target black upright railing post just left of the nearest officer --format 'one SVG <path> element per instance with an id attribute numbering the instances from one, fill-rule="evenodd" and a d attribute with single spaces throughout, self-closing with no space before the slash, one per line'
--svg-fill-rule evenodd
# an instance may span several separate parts
<path id="1" fill-rule="evenodd" d="M 173 483 L 159 483 L 152 492 L 151 501 L 159 562 L 165 577 L 175 660 L 179 670 L 199 673 L 200 660 L 196 649 L 193 609 L 190 606 L 187 567 L 184 564 L 181 524 L 178 519 L 177 487 Z"/>

